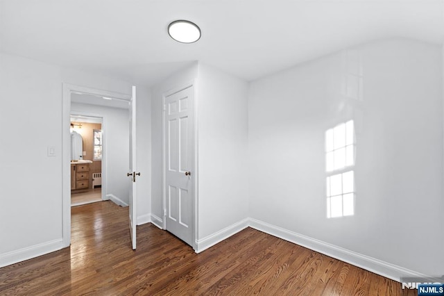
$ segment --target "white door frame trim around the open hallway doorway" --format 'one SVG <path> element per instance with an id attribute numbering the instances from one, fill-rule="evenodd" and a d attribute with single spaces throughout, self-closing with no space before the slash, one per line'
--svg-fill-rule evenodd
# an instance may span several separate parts
<path id="1" fill-rule="evenodd" d="M 71 94 L 74 92 L 91 94 L 126 101 L 130 101 L 131 94 L 99 90 L 69 83 L 62 83 L 62 88 L 62 243 L 63 247 L 69 247 L 69 245 L 71 245 L 71 138 L 69 133 L 69 124 L 71 122 Z"/>

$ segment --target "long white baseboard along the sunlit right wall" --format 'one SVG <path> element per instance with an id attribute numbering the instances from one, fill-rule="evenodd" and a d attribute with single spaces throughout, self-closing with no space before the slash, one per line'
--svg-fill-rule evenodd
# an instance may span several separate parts
<path id="1" fill-rule="evenodd" d="M 355 265 L 359 268 L 363 268 L 364 270 L 382 275 L 388 279 L 400 281 L 400 277 L 427 277 L 425 274 L 420 274 L 418 272 L 414 272 L 413 270 L 408 270 L 407 268 L 402 268 L 398 265 L 387 263 L 376 258 L 350 251 L 348 249 L 343 249 L 342 247 L 331 245 L 321 240 L 309 238 L 308 236 L 304 236 L 300 233 L 289 231 L 281 227 L 276 227 L 272 224 L 255 220 L 253 218 L 249 219 L 249 226 L 259 231 L 268 233 L 271 236 L 282 238 L 283 240 L 293 242 L 296 245 L 312 249 L 313 251 L 321 254 L 325 254 L 332 258 Z"/>

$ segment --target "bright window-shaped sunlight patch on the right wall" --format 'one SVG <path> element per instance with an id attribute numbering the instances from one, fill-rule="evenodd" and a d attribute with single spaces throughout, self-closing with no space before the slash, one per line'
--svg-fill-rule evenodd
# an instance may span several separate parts
<path id="1" fill-rule="evenodd" d="M 355 126 L 353 120 L 325 132 L 327 217 L 355 214 Z"/>

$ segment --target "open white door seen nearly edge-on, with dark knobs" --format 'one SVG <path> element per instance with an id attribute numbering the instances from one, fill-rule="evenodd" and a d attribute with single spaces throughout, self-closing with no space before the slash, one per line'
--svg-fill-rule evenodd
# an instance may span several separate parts
<path id="1" fill-rule="evenodd" d="M 133 94 L 130 101 L 130 169 L 127 176 L 130 176 L 130 236 L 131 245 L 136 249 L 136 222 L 137 222 L 137 182 L 136 176 L 136 87 L 133 85 Z"/>

